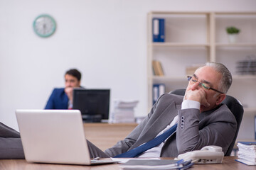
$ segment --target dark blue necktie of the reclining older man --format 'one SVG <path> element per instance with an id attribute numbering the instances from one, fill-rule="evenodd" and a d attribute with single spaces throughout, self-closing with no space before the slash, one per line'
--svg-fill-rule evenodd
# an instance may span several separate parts
<path id="1" fill-rule="evenodd" d="M 115 157 L 117 158 L 118 157 L 137 157 L 139 156 L 139 154 L 142 154 L 142 152 L 145 152 L 146 150 L 161 144 L 161 142 L 164 142 L 164 140 L 166 140 L 169 136 L 171 136 L 172 134 L 174 134 L 174 132 L 176 132 L 176 129 L 177 129 L 177 124 L 173 125 L 169 130 L 166 130 L 166 132 L 159 135 L 158 137 L 155 137 L 153 140 L 150 140 L 149 142 L 146 142 L 143 145 L 140 145 L 139 147 L 131 149 L 127 152 L 118 154 Z"/>

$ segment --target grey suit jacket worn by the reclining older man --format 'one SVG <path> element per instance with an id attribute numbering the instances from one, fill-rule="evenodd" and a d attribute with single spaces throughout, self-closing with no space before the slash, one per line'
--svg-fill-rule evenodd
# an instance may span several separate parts
<path id="1" fill-rule="evenodd" d="M 177 157 L 178 154 L 217 145 L 227 152 L 235 136 L 237 123 L 226 105 L 199 113 L 198 109 L 181 110 L 183 96 L 164 94 L 154 104 L 150 113 L 124 140 L 105 150 L 110 157 L 152 140 L 178 115 L 176 133 L 169 137 L 161 149 L 160 157 Z"/>

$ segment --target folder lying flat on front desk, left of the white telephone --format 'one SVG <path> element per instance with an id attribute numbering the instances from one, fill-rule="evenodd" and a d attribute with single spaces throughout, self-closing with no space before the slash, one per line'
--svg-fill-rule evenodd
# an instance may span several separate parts
<path id="1" fill-rule="evenodd" d="M 188 169 L 193 163 L 191 160 L 184 162 L 183 159 L 131 159 L 120 166 L 122 169 Z"/>

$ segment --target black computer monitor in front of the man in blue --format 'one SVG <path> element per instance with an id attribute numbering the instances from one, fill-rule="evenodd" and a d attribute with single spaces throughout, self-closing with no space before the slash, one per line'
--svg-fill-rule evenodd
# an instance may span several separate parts
<path id="1" fill-rule="evenodd" d="M 108 120 L 110 89 L 74 89 L 73 109 L 80 110 L 84 122 Z"/>

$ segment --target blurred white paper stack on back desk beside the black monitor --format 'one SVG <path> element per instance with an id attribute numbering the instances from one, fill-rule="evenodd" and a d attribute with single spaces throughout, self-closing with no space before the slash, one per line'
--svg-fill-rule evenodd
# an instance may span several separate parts
<path id="1" fill-rule="evenodd" d="M 139 101 L 114 101 L 111 123 L 134 123 L 134 108 Z"/>

